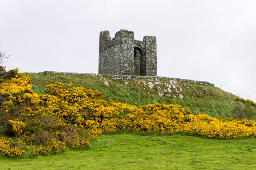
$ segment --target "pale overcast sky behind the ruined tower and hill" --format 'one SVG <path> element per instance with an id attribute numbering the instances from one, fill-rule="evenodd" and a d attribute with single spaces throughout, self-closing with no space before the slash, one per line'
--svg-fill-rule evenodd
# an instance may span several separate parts
<path id="1" fill-rule="evenodd" d="M 159 76 L 256 102 L 255 0 L 0 0 L 8 70 L 98 73 L 100 31 L 121 29 L 156 36 Z"/>

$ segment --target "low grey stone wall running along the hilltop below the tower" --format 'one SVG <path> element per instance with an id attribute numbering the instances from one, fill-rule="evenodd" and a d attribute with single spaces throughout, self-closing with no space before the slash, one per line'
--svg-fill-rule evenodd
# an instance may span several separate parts
<path id="1" fill-rule="evenodd" d="M 214 84 L 207 81 L 196 81 L 196 80 L 187 80 L 180 78 L 172 77 L 160 77 L 160 76 L 136 76 L 136 75 L 108 75 L 108 74 L 90 74 L 90 73 L 76 73 L 76 72 L 57 72 L 57 71 L 44 71 L 44 75 L 51 74 L 63 74 L 63 75 L 83 75 L 83 76 L 100 76 L 100 77 L 110 77 L 113 80 L 138 80 L 138 79 L 150 79 L 150 80 L 159 80 L 159 79 L 169 79 L 182 82 L 192 82 L 200 85 L 209 85 L 214 86 Z"/>

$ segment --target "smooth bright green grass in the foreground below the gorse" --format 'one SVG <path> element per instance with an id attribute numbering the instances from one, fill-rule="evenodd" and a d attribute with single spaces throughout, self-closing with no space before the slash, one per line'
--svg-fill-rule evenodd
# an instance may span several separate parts
<path id="1" fill-rule="evenodd" d="M 187 135 L 100 135 L 87 150 L 60 155 L 0 157 L 0 170 L 253 170 L 256 139 L 205 139 Z"/>

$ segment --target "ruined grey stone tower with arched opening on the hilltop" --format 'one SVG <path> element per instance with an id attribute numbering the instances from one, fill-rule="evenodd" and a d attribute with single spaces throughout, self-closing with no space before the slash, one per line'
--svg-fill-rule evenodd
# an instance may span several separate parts
<path id="1" fill-rule="evenodd" d="M 156 37 L 134 40 L 133 31 L 120 30 L 112 38 L 100 32 L 99 74 L 157 76 Z"/>

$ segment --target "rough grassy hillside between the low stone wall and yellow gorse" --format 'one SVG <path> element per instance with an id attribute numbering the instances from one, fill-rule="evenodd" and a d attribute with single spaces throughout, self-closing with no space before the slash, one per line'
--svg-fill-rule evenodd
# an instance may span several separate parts
<path id="1" fill-rule="evenodd" d="M 55 82 L 62 82 L 68 86 L 68 83 L 72 83 L 74 86 L 82 86 L 85 88 L 91 88 L 92 90 L 99 90 L 103 93 L 105 100 L 113 100 L 114 102 L 126 102 L 132 105 L 146 105 L 156 102 L 164 102 L 165 104 L 177 104 L 182 105 L 185 109 L 190 110 L 194 114 L 205 113 L 212 117 L 233 117 L 232 108 L 234 105 L 241 105 L 243 103 L 235 102 L 236 97 L 233 94 L 220 90 L 218 87 L 210 87 L 206 85 L 199 85 L 195 83 L 177 82 L 176 88 L 181 92 L 176 92 L 174 88 L 170 88 L 172 91 L 171 97 L 160 97 L 157 92 L 164 92 L 164 85 L 156 85 L 151 89 L 148 87 L 147 82 L 149 80 L 112 80 L 108 77 L 103 77 L 105 80 L 100 80 L 100 76 L 82 76 L 82 75 L 62 75 L 52 74 L 44 75 L 40 73 L 26 73 L 31 75 L 33 90 L 36 93 L 44 94 L 45 87 L 48 84 Z M 104 85 L 104 81 L 108 81 L 109 87 Z M 125 85 L 125 81 L 128 85 Z M 143 84 L 146 82 L 146 85 Z M 170 80 L 161 79 L 159 82 L 169 83 Z M 140 83 L 139 83 L 140 82 Z M 155 82 L 152 80 L 151 82 Z M 167 91 L 168 92 L 168 91 Z M 149 93 L 149 94 L 148 94 Z M 184 98 L 179 99 L 179 95 L 183 95 Z M 176 98 L 175 98 L 176 97 Z"/>

